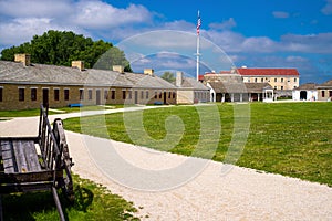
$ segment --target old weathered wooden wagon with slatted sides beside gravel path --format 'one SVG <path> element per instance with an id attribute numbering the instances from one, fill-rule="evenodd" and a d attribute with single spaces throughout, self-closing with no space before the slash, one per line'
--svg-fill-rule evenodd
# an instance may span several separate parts
<path id="1" fill-rule="evenodd" d="M 65 220 L 56 189 L 74 200 L 73 162 L 61 119 L 52 127 L 41 105 L 38 136 L 0 137 L 0 194 L 51 190 L 60 219 Z"/>

